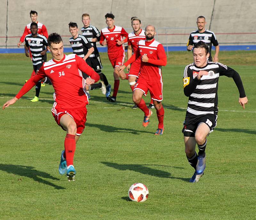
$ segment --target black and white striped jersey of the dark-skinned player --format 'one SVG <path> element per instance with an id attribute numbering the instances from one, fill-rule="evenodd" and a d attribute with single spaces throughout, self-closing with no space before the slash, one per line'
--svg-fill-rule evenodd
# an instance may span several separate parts
<path id="1" fill-rule="evenodd" d="M 31 51 L 33 65 L 46 62 L 46 54 L 41 55 L 41 52 L 47 47 L 47 39 L 45 36 L 37 34 L 36 37 L 33 37 L 32 34 L 29 34 L 25 36 L 24 41 L 26 47 Z"/>

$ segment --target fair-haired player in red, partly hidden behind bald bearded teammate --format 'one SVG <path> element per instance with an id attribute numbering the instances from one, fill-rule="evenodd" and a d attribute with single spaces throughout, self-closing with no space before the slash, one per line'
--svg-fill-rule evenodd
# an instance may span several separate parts
<path id="1" fill-rule="evenodd" d="M 141 29 L 140 19 L 138 19 L 137 17 L 132 17 L 131 22 L 132 22 L 133 32 L 128 35 L 127 60 L 131 58 L 132 51 L 133 51 L 133 53 L 136 53 L 136 51 L 138 50 L 138 42 L 140 40 L 146 39 L 145 31 Z M 136 59 L 132 63 L 132 67 L 130 64 L 126 67 L 126 70 L 129 72 L 128 81 L 129 81 L 132 91 L 134 89 L 134 85 L 136 84 L 136 80 L 140 73 L 140 63 L 141 63 L 141 59 Z M 154 108 L 152 98 L 150 99 L 150 104 L 148 107 Z M 138 108 L 138 106 L 135 104 L 134 106 L 132 106 L 132 108 L 136 109 L 136 108 Z"/>

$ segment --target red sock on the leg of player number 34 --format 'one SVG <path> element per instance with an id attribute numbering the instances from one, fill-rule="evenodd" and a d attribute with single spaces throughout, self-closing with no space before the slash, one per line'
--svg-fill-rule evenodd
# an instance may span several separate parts
<path id="1" fill-rule="evenodd" d="M 74 154 L 76 151 L 75 137 L 76 135 L 67 134 L 64 141 L 65 153 L 63 156 L 66 158 L 67 166 L 74 165 L 73 160 L 74 160 Z"/>

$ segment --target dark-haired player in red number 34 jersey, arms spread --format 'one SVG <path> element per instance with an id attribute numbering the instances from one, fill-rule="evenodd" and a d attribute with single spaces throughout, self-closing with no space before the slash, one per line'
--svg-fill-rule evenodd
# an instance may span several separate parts
<path id="1" fill-rule="evenodd" d="M 85 60 L 76 54 L 65 55 L 60 35 L 53 33 L 48 37 L 48 50 L 52 54 L 50 61 L 45 62 L 37 75 L 28 80 L 19 93 L 3 105 L 3 109 L 14 104 L 44 77 L 49 77 L 55 90 L 52 115 L 57 124 L 67 135 L 64 141 L 65 150 L 61 153 L 59 173 L 67 173 L 68 180 L 75 180 L 76 170 L 73 159 L 76 142 L 84 131 L 88 104 L 85 85 L 97 82 L 99 75 L 89 67 Z M 91 78 L 82 76 L 85 72 Z"/>

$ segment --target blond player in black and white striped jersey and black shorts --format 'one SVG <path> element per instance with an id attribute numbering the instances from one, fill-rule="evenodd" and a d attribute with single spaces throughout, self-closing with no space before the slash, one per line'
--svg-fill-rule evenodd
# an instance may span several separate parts
<path id="1" fill-rule="evenodd" d="M 96 73 L 100 75 L 100 80 L 104 82 L 106 85 L 106 97 L 110 96 L 111 93 L 111 85 L 108 83 L 108 79 L 105 74 L 102 73 L 102 65 L 100 61 L 100 53 L 98 51 L 98 48 L 96 46 L 96 42 L 100 41 L 100 31 L 95 26 L 91 25 L 90 15 L 89 14 L 83 14 L 82 15 L 82 22 L 84 24 L 84 27 L 81 28 L 82 35 L 86 37 L 86 39 L 92 44 L 94 51 L 90 55 L 90 61 L 92 64 L 92 68 Z"/>

